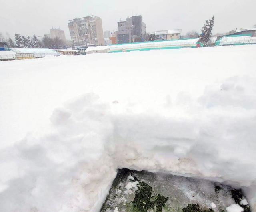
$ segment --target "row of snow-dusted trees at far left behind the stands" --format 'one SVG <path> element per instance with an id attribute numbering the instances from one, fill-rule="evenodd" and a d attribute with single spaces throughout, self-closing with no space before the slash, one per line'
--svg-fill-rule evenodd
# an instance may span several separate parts
<path id="1" fill-rule="evenodd" d="M 56 37 L 54 39 L 44 35 L 42 40 L 39 40 L 36 35 L 23 36 L 15 34 L 14 40 L 12 38 L 4 39 L 0 33 L 0 40 L 5 40 L 9 48 L 50 48 L 50 49 L 66 49 L 68 46 L 65 41 Z"/>

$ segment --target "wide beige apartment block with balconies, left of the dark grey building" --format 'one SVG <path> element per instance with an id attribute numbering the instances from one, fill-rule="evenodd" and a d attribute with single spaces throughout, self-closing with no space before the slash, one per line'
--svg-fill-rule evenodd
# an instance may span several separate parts
<path id="1" fill-rule="evenodd" d="M 68 28 L 75 46 L 88 44 L 104 46 L 102 20 L 100 17 L 75 18 L 68 22 Z"/>

